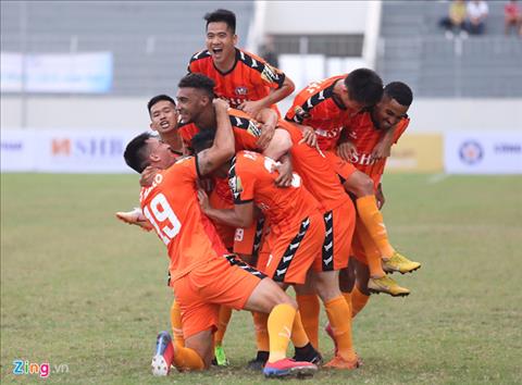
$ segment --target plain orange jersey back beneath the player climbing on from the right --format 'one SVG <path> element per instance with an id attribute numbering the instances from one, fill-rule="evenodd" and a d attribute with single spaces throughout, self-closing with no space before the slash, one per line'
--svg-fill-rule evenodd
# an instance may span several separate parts
<path id="1" fill-rule="evenodd" d="M 307 144 L 299 144 L 302 139 L 300 129 L 283 120 L 279 120 L 277 127 L 284 128 L 290 134 L 293 142 L 290 156 L 294 170 L 302 177 L 304 187 L 321 203 L 322 211 L 330 211 L 341 204 L 351 204 L 330 162 L 321 156 L 318 149 Z"/>

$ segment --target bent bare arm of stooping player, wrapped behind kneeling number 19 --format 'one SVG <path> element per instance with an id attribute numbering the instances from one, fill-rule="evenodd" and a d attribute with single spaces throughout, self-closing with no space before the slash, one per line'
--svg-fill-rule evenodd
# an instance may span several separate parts
<path id="1" fill-rule="evenodd" d="M 212 221 L 224 223 L 232 227 L 248 227 L 253 222 L 253 201 L 235 204 L 234 209 L 214 209 L 210 206 L 209 197 L 203 190 L 198 190 L 199 204 L 203 213 Z"/>

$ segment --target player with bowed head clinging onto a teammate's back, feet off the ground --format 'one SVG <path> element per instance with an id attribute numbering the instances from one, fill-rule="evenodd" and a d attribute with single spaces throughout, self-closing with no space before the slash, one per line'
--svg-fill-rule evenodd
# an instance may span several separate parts
<path id="1" fill-rule="evenodd" d="M 380 250 L 378 258 L 369 261 L 373 286 L 380 291 L 401 295 L 403 288 L 384 274 L 381 264 L 387 270 L 411 272 L 420 263 L 408 260 L 389 244 L 372 179 L 334 151 L 344 126 L 362 109 L 376 104 L 382 95 L 381 77 L 371 70 L 359 69 L 310 84 L 297 95 L 285 117 L 300 125 L 307 144 L 324 153 L 347 192 L 356 196 L 358 218 Z"/>

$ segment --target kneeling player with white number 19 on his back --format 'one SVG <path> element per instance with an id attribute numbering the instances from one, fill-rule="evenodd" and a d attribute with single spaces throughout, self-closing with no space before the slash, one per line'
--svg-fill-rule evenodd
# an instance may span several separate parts
<path id="1" fill-rule="evenodd" d="M 213 356 L 212 332 L 217 306 L 270 313 L 270 358 L 265 376 L 313 374 L 316 367 L 285 358 L 296 315 L 296 302 L 270 278 L 227 256 L 197 198 L 198 179 L 234 156 L 234 136 L 223 101 L 217 107 L 213 146 L 176 162 L 166 144 L 141 134 L 125 149 L 126 163 L 141 173 L 148 165 L 164 169 L 152 186 L 142 188 L 140 203 L 171 258 L 170 285 L 182 309 L 185 347 L 174 345 L 174 365 L 201 370 Z M 198 290 L 195 289 L 198 287 Z"/>

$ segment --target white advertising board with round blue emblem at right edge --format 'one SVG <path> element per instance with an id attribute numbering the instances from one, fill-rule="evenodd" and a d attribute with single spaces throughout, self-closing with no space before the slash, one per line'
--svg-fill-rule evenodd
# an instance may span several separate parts
<path id="1" fill-rule="evenodd" d="M 522 133 L 448 132 L 444 164 L 450 174 L 522 174 Z"/>

